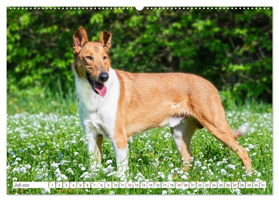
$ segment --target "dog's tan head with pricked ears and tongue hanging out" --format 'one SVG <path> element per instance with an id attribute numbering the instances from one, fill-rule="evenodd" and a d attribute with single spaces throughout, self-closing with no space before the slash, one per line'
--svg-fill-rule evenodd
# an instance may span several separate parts
<path id="1" fill-rule="evenodd" d="M 110 39 L 111 34 L 103 31 L 99 42 L 88 42 L 83 27 L 74 33 L 74 69 L 78 76 L 87 79 L 92 89 L 101 96 L 105 96 L 107 92 L 103 83 L 109 79 Z"/>

